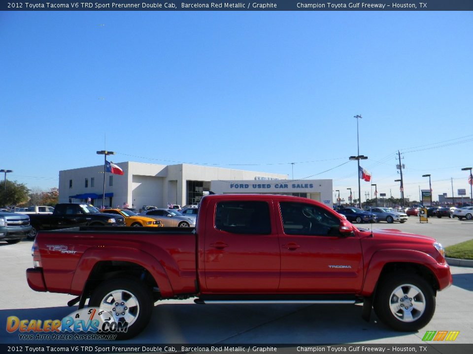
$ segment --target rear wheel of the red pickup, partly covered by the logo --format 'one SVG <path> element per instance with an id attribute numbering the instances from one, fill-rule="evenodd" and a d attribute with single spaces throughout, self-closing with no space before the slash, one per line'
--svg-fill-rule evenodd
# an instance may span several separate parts
<path id="1" fill-rule="evenodd" d="M 154 301 L 145 284 L 128 278 L 110 279 L 92 293 L 89 307 L 99 307 L 112 314 L 116 323 L 128 323 L 126 332 L 116 332 L 118 339 L 133 338 L 148 324 Z"/>

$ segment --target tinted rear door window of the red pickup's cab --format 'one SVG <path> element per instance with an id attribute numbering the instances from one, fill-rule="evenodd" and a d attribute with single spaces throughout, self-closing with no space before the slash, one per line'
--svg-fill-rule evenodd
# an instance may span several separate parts
<path id="1" fill-rule="evenodd" d="M 215 213 L 215 228 L 233 234 L 269 235 L 270 207 L 266 202 L 220 202 Z"/>

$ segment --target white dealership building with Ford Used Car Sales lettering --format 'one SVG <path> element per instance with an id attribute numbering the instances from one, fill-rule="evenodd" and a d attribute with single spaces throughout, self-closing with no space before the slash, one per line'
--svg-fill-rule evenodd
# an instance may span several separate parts
<path id="1" fill-rule="evenodd" d="M 59 172 L 59 202 L 95 206 L 166 207 L 198 204 L 204 192 L 267 193 L 310 198 L 332 206 L 332 179 L 289 180 L 287 175 L 189 164 L 116 163 L 123 175 L 105 174 L 103 165 Z"/>

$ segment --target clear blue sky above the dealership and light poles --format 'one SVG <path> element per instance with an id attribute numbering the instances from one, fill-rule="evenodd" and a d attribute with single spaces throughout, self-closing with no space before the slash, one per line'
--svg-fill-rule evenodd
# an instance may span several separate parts
<path id="1" fill-rule="evenodd" d="M 1 12 L 0 169 L 47 189 L 104 148 L 289 178 L 296 162 L 346 198 L 356 162 L 334 167 L 360 114 L 379 193 L 400 195 L 399 149 L 405 197 L 423 174 L 434 200 L 450 178 L 469 194 L 472 38 L 472 12 Z"/>

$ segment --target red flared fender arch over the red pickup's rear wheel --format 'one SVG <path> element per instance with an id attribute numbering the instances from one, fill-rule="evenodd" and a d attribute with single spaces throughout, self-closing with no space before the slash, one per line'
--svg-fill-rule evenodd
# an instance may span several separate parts
<path id="1" fill-rule="evenodd" d="M 102 261 L 130 262 L 142 266 L 153 276 L 163 297 L 173 295 L 168 275 L 159 263 L 159 260 L 149 253 L 126 247 L 107 247 L 106 250 L 94 247 L 85 251 L 75 269 L 70 286 L 70 294 L 82 294 L 92 269 L 94 269 L 98 262 Z"/>

